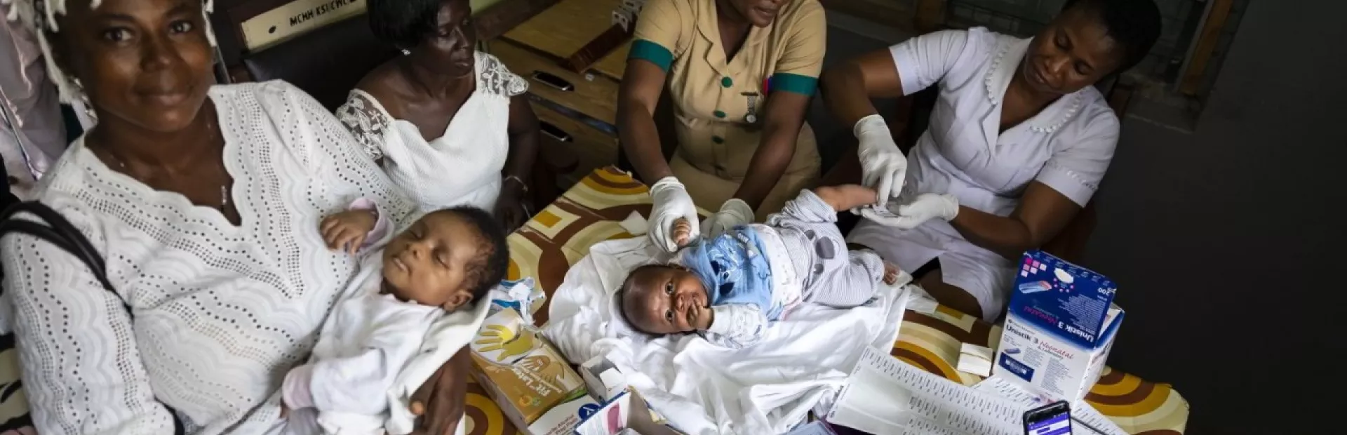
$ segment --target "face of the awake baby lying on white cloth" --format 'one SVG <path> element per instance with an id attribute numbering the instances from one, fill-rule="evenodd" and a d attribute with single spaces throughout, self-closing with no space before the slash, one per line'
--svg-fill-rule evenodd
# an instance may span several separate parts
<path id="1" fill-rule="evenodd" d="M 675 334 L 711 326 L 706 287 L 692 272 L 660 265 L 632 273 L 622 311 L 637 329 L 649 334 Z"/>

